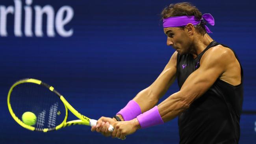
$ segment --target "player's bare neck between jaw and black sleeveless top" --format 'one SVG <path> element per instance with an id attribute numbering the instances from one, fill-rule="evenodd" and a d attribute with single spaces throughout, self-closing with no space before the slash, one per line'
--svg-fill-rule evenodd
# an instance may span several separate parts
<path id="1" fill-rule="evenodd" d="M 195 41 L 192 44 L 191 52 L 190 54 L 193 55 L 193 57 L 197 57 L 198 54 L 200 54 L 204 49 L 213 41 L 211 37 L 206 33 L 204 36 L 198 35 L 198 37 L 195 38 Z"/>

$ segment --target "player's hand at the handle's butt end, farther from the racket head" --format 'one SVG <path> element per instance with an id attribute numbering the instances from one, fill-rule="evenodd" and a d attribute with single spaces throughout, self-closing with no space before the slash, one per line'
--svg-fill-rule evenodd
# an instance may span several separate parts
<path id="1" fill-rule="evenodd" d="M 129 121 L 115 122 L 113 125 L 114 131 L 112 132 L 112 138 L 125 139 L 126 135 L 135 133 L 140 128 L 139 121 L 137 118 Z"/>

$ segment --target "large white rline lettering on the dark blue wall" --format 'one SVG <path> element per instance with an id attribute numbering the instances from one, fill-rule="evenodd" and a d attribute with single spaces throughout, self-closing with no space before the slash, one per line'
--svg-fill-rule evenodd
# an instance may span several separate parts
<path id="1" fill-rule="evenodd" d="M 54 37 L 55 30 L 61 37 L 70 37 L 73 35 L 73 29 L 65 30 L 65 25 L 67 25 L 74 17 L 74 10 L 70 6 L 62 6 L 59 8 L 55 15 L 54 7 L 50 5 L 46 6 L 34 6 L 31 7 L 33 0 L 26 0 L 24 11 L 22 11 L 22 0 L 13 0 L 14 6 L 0 6 L 0 36 L 7 37 L 7 16 L 14 18 L 14 35 L 16 37 L 22 37 L 22 22 L 24 22 L 24 34 L 26 37 L 33 36 L 33 17 L 35 19 L 35 36 L 43 37 L 43 17 L 46 15 L 46 35 L 48 37 Z M 24 20 L 22 19 L 22 14 L 24 13 Z M 65 17 L 64 17 L 64 14 Z"/>

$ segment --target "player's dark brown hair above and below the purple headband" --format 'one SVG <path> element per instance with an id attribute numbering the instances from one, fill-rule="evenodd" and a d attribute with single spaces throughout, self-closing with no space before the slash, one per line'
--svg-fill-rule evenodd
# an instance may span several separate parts
<path id="1" fill-rule="evenodd" d="M 193 6 L 189 2 L 182 2 L 177 4 L 170 4 L 163 9 L 161 12 L 162 19 L 167 17 L 176 17 L 176 16 L 195 16 L 196 20 L 200 20 L 202 18 L 202 13 L 197 9 L 197 7 Z M 184 30 L 184 27 L 182 27 Z M 195 26 L 195 29 L 201 35 L 206 34 L 206 30 L 204 28 L 204 24 L 200 22 Z"/>

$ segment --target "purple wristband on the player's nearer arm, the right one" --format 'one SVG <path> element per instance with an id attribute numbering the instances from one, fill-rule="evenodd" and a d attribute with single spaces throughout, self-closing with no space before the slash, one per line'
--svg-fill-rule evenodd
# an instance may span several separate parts
<path id="1" fill-rule="evenodd" d="M 142 129 L 164 123 L 157 106 L 153 107 L 152 109 L 146 111 L 143 114 L 140 114 L 139 116 L 137 116 L 137 119 Z"/>

